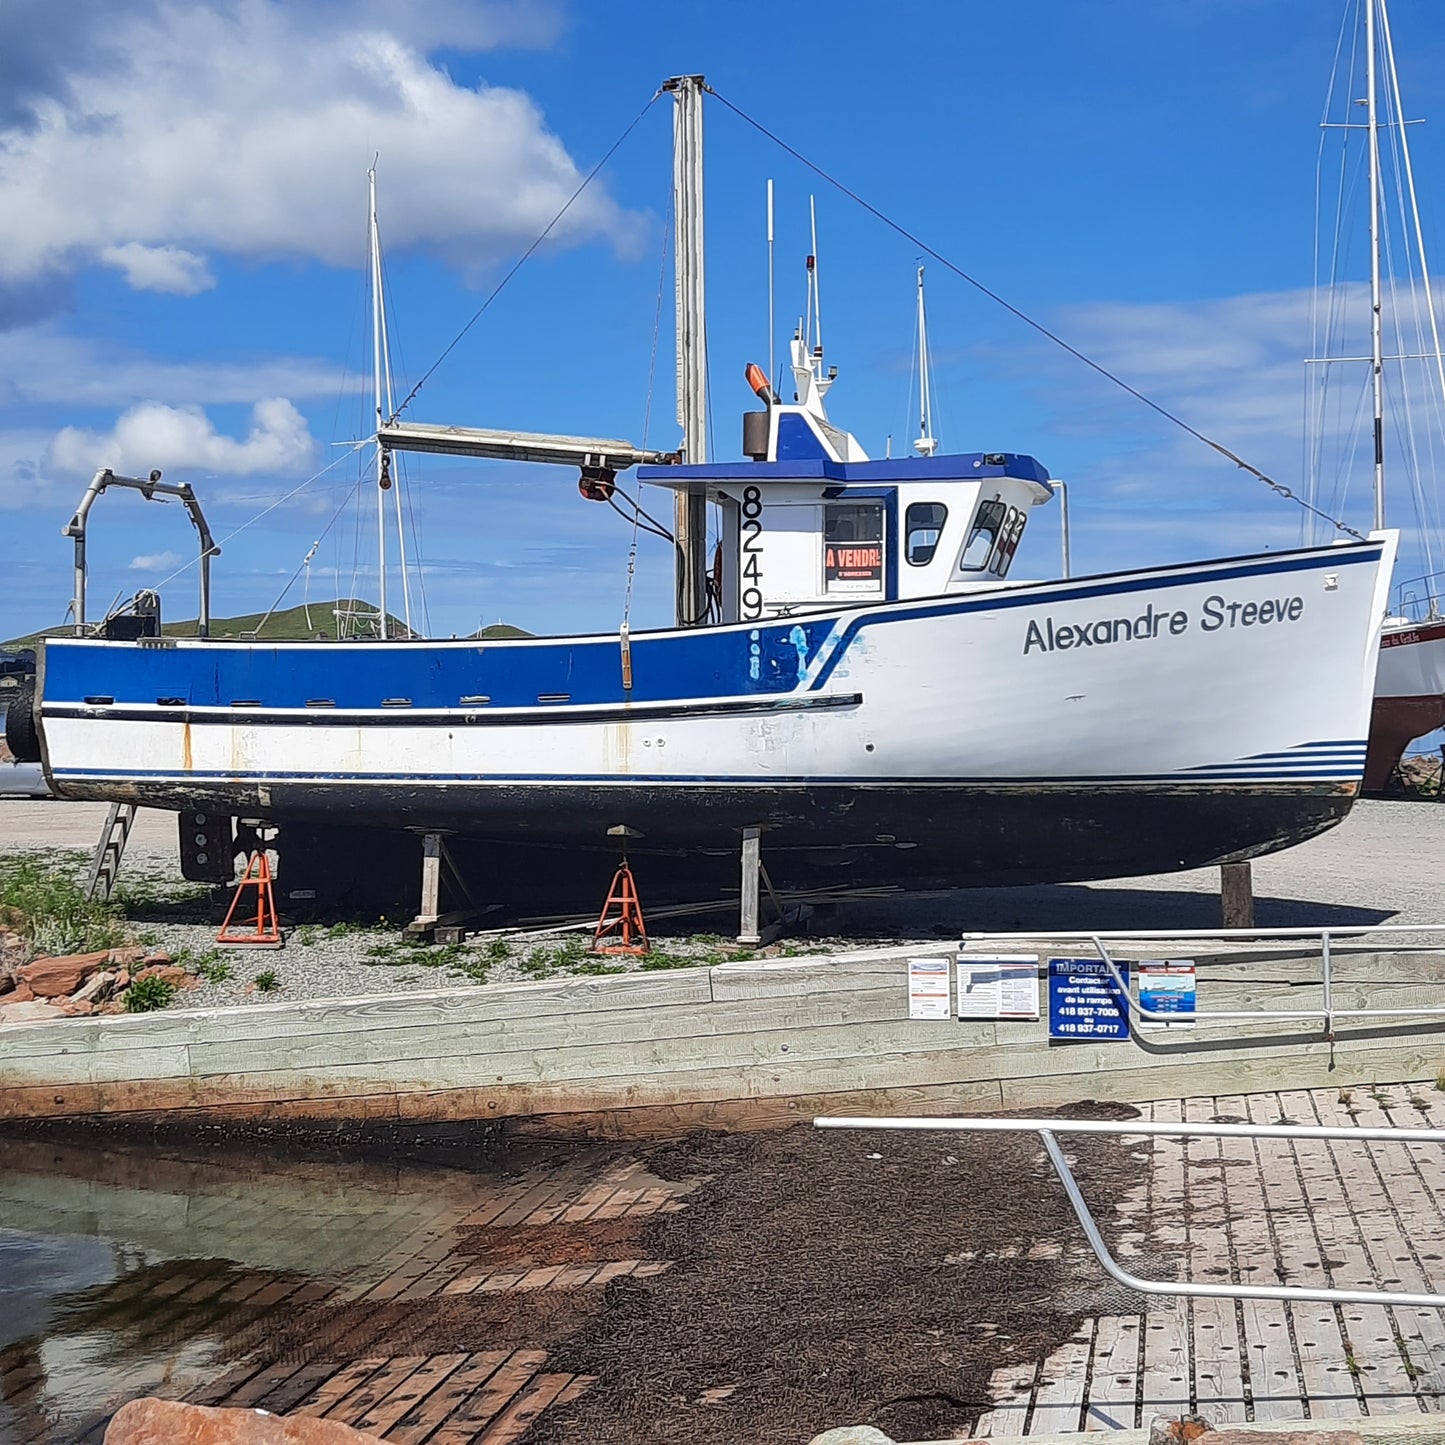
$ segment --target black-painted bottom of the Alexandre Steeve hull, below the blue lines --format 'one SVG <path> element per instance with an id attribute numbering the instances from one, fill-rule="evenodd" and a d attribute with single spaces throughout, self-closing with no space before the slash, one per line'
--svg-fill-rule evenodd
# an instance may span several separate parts
<path id="1" fill-rule="evenodd" d="M 264 802 L 227 789 L 66 783 L 68 798 L 257 816 L 280 828 L 283 887 L 322 876 L 410 873 L 416 834 L 452 835 L 488 902 L 591 905 L 620 851 L 663 899 L 736 889 L 738 835 L 762 827 L 777 887 L 988 887 L 1075 883 L 1205 867 L 1273 853 L 1334 827 L 1348 785 L 736 789 L 467 789 L 272 785 Z M 384 860 L 384 861 L 383 861 Z M 598 883 L 598 880 L 601 880 Z M 410 883 L 410 880 L 407 880 Z"/>

